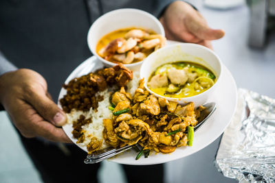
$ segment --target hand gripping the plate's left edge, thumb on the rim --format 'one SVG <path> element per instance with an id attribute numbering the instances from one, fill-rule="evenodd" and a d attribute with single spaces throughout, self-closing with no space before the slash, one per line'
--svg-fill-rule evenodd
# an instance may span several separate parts
<path id="1" fill-rule="evenodd" d="M 65 113 L 47 93 L 44 78 L 30 69 L 19 69 L 0 77 L 0 101 L 12 122 L 26 138 L 41 136 L 50 141 L 72 143 L 62 130 Z"/>

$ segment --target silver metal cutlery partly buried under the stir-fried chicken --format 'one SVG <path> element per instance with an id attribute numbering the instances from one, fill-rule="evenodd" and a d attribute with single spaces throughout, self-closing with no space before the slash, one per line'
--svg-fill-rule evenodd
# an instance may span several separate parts
<path id="1" fill-rule="evenodd" d="M 196 131 L 213 114 L 214 110 L 216 110 L 216 108 L 217 108 L 217 104 L 214 102 L 206 103 L 205 105 L 203 105 L 203 107 L 205 107 L 206 109 L 201 111 L 201 117 L 199 119 L 197 119 L 198 124 L 194 127 L 194 131 Z M 137 145 L 137 144 L 135 144 L 135 145 Z M 102 160 L 111 158 L 115 155 L 118 155 L 118 154 L 124 152 L 124 151 L 127 151 L 135 145 L 126 145 L 119 149 L 115 149 L 113 147 L 109 147 L 107 149 L 102 149 L 101 151 L 97 151 L 96 154 L 87 155 L 87 158 L 84 160 L 84 162 L 85 162 L 85 164 L 98 163 L 98 162 L 101 162 Z"/>

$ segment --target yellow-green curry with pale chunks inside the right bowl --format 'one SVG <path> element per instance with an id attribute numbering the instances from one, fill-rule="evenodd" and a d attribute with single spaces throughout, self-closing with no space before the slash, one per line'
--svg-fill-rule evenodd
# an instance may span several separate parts
<path id="1" fill-rule="evenodd" d="M 208 90 L 216 82 L 210 69 L 192 62 L 163 64 L 151 74 L 148 88 L 164 97 L 192 97 Z"/>

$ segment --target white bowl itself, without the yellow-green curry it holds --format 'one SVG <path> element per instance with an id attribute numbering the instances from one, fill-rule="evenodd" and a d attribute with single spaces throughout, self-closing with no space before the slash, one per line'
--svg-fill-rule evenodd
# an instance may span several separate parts
<path id="1" fill-rule="evenodd" d="M 147 82 L 148 77 L 150 77 L 151 73 L 153 73 L 153 71 L 155 71 L 155 69 L 157 69 L 157 67 L 162 64 L 177 61 L 194 62 L 206 66 L 217 77 L 217 81 L 211 88 L 204 91 L 203 93 L 185 98 L 164 97 L 162 95 L 157 95 L 152 90 L 150 90 L 147 86 Z M 166 98 L 170 101 L 177 101 L 181 104 L 192 101 L 195 103 L 195 107 L 206 103 L 208 97 L 213 94 L 214 88 L 217 88 L 217 86 L 219 85 L 221 73 L 222 66 L 219 56 L 217 56 L 212 50 L 208 49 L 207 47 L 192 43 L 179 43 L 158 49 L 157 51 L 151 53 L 151 55 L 144 60 L 140 69 L 140 77 L 144 78 L 145 88 L 150 93 L 157 97 Z"/>

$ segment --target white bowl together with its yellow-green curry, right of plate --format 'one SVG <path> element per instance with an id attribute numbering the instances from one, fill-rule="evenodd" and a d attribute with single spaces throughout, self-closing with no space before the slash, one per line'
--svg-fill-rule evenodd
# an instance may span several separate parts
<path id="1" fill-rule="evenodd" d="M 178 103 L 193 101 L 195 106 L 203 105 L 213 95 L 221 73 L 219 56 L 192 43 L 159 49 L 144 60 L 140 69 L 150 93 Z"/>

